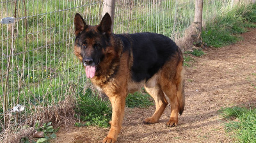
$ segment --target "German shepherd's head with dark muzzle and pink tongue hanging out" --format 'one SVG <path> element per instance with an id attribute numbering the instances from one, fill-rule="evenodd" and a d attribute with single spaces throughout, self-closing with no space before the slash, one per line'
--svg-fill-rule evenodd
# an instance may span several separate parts
<path id="1" fill-rule="evenodd" d="M 76 34 L 74 52 L 86 67 L 86 76 L 92 78 L 110 42 L 111 17 L 106 13 L 99 25 L 88 26 L 83 17 L 76 13 L 74 26 Z"/>

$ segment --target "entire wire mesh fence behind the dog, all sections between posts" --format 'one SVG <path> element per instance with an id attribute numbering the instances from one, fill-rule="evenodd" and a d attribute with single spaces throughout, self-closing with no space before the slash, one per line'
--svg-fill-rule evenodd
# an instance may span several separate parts
<path id="1" fill-rule="evenodd" d="M 233 2 L 204 0 L 204 20 Z M 38 110 L 58 105 L 67 93 L 77 96 L 90 85 L 73 54 L 73 19 L 81 13 L 87 24 L 99 24 L 102 4 L 96 0 L 0 2 L 0 130 L 24 123 Z M 195 0 L 116 1 L 114 33 L 148 31 L 177 39 L 193 23 L 194 10 Z"/>

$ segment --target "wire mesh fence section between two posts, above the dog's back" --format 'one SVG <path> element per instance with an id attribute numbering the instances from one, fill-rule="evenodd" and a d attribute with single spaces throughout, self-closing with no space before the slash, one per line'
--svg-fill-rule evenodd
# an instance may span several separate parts
<path id="1" fill-rule="evenodd" d="M 117 1 L 115 33 L 151 31 L 174 38 L 193 22 L 195 3 L 182 1 Z"/>

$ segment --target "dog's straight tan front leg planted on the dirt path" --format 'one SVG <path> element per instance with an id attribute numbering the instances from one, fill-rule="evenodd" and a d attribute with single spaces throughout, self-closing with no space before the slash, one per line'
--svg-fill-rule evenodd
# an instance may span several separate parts
<path id="1" fill-rule="evenodd" d="M 102 142 L 116 142 L 118 133 L 120 133 L 122 121 L 124 119 L 125 94 L 109 96 L 112 105 L 112 121 L 111 128 L 107 137 Z"/>

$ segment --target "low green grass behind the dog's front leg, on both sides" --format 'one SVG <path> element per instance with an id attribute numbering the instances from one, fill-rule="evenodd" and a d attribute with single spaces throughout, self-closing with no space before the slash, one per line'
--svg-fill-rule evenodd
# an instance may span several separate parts
<path id="1" fill-rule="evenodd" d="M 147 93 L 136 92 L 126 98 L 129 108 L 146 108 L 154 105 L 152 98 Z M 76 117 L 79 116 L 85 123 L 76 123 L 75 126 L 100 126 L 108 127 L 111 120 L 111 103 L 96 96 L 92 89 L 87 88 L 85 94 L 80 93 L 77 99 Z"/>

